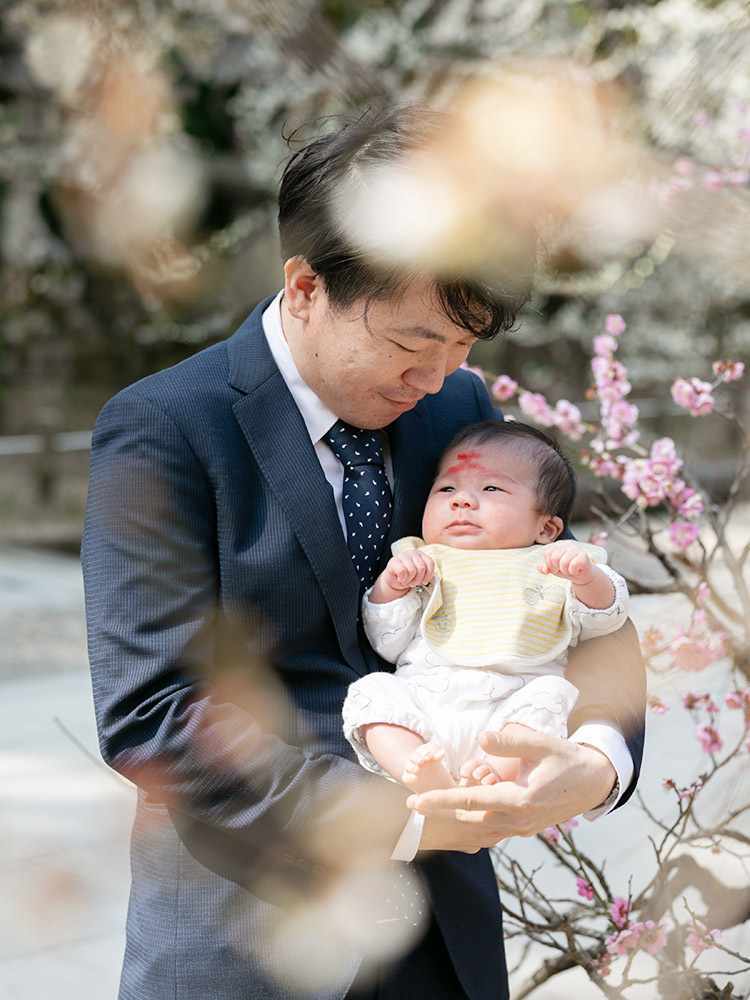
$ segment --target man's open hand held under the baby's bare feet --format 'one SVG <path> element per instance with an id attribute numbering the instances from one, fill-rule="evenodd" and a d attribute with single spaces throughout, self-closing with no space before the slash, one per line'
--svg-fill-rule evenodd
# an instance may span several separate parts
<path id="1" fill-rule="evenodd" d="M 481 744 L 490 757 L 520 758 L 518 781 L 410 796 L 407 805 L 428 817 L 423 850 L 474 853 L 507 837 L 531 837 L 600 805 L 617 779 L 599 750 L 516 723 L 484 733 Z M 465 837 L 456 823 L 465 828 Z"/>

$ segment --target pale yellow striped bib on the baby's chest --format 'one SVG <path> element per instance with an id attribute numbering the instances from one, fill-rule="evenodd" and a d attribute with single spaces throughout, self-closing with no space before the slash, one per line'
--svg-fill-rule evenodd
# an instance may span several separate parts
<path id="1" fill-rule="evenodd" d="M 583 545 L 594 562 L 606 552 Z M 542 546 L 456 549 L 402 538 L 394 555 L 419 548 L 435 561 L 432 593 L 420 630 L 432 649 L 467 667 L 538 666 L 563 653 L 572 639 L 565 606 L 571 585 L 539 572 Z"/>

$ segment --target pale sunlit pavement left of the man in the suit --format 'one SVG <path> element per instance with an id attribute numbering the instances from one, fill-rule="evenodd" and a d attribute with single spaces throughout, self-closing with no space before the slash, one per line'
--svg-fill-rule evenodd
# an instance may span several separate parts
<path id="1" fill-rule="evenodd" d="M 117 996 L 134 794 L 98 760 L 81 615 L 77 560 L 0 550 L 2 1000 Z"/>

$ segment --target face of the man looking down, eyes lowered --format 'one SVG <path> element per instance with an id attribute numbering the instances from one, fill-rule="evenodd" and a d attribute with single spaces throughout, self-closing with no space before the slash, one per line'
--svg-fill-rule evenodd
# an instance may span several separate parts
<path id="1" fill-rule="evenodd" d="M 385 427 L 439 392 L 475 342 L 445 316 L 427 282 L 394 300 L 373 299 L 365 314 L 365 302 L 333 308 L 316 281 L 287 339 L 305 382 L 356 427 Z"/>

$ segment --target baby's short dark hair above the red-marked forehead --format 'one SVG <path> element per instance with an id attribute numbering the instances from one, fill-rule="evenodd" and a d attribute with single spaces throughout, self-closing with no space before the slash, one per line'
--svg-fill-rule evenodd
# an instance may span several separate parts
<path id="1" fill-rule="evenodd" d="M 537 463 L 536 497 L 539 510 L 559 517 L 567 527 L 576 498 L 576 476 L 557 441 L 544 431 L 517 420 L 483 420 L 459 431 L 443 452 L 443 457 L 461 445 L 487 444 L 489 441 L 507 444 Z"/>

